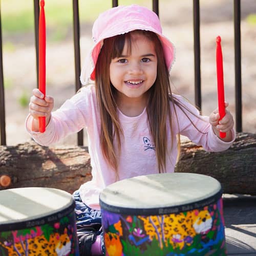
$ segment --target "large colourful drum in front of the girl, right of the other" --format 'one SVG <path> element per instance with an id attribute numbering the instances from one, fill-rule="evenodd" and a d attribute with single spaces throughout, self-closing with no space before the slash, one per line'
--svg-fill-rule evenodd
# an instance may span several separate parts
<path id="1" fill-rule="evenodd" d="M 100 194 L 106 255 L 226 255 L 222 189 L 198 174 L 122 180 Z"/>

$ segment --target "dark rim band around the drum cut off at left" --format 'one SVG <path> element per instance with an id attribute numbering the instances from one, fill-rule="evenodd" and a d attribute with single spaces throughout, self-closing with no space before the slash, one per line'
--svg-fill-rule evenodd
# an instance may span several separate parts
<path id="1" fill-rule="evenodd" d="M 12 220 L 9 223 L 7 223 L 6 221 L 3 224 L 0 223 L 0 232 L 20 230 L 25 228 L 33 228 L 36 226 L 55 223 L 55 222 L 58 222 L 61 218 L 71 214 L 71 212 L 74 211 L 74 209 L 75 209 L 75 201 L 72 200 L 72 203 L 66 208 L 61 209 L 60 211 L 56 210 L 54 212 L 51 212 L 51 214 L 48 214 L 45 216 L 31 218 L 31 219 L 17 220 L 17 221 Z M 50 217 L 52 220 L 49 220 Z"/>

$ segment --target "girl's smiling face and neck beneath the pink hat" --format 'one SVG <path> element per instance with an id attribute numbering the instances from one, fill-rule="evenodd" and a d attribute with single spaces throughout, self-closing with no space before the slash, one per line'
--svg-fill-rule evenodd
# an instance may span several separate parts
<path id="1" fill-rule="evenodd" d="M 146 105 L 146 92 L 157 77 L 157 55 L 154 42 L 134 32 L 132 44 L 125 41 L 122 55 L 112 59 L 110 63 L 110 80 L 118 91 L 117 102 Z"/>

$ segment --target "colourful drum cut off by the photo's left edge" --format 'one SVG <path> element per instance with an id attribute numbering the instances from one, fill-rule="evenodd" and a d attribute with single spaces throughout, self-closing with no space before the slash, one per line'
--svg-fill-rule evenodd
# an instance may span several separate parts
<path id="1" fill-rule="evenodd" d="M 75 203 L 66 191 L 0 191 L 0 255 L 79 255 Z"/>

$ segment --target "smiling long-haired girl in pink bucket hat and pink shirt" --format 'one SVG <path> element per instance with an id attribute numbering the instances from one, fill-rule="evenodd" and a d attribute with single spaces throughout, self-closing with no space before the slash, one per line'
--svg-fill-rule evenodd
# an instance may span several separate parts
<path id="1" fill-rule="evenodd" d="M 53 98 L 44 99 L 34 89 L 26 120 L 41 145 L 87 129 L 92 180 L 73 195 L 80 255 L 104 253 L 102 189 L 134 176 L 174 172 L 176 135 L 215 152 L 226 150 L 235 137 L 228 110 L 219 122 L 218 110 L 200 116 L 193 105 L 172 94 L 169 71 L 175 50 L 154 12 L 138 5 L 112 8 L 99 15 L 92 32 L 93 67 L 87 61 L 81 73 L 87 86 L 53 113 Z M 46 116 L 45 133 L 38 132 L 39 116 Z M 226 132 L 224 139 L 220 131 Z"/>

